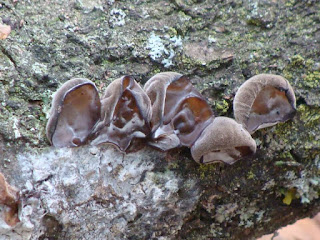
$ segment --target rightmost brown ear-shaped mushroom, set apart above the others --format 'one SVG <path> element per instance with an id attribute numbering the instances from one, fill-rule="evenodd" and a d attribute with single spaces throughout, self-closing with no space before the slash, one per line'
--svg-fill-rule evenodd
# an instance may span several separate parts
<path id="1" fill-rule="evenodd" d="M 253 133 L 293 118 L 296 99 L 288 80 L 278 75 L 259 74 L 241 85 L 233 110 L 237 122 Z"/>

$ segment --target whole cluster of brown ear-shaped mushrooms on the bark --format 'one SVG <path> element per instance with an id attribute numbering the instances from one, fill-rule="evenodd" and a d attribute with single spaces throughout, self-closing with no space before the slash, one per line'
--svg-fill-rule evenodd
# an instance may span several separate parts
<path id="1" fill-rule="evenodd" d="M 101 98 L 93 82 L 75 78 L 55 93 L 46 132 L 55 147 L 109 143 L 129 152 L 146 142 L 162 151 L 189 147 L 198 163 L 232 164 L 255 153 L 253 132 L 294 116 L 295 96 L 285 78 L 260 74 L 239 88 L 233 108 L 235 120 L 215 117 L 190 80 L 175 72 L 156 74 L 144 88 L 124 76 Z"/>

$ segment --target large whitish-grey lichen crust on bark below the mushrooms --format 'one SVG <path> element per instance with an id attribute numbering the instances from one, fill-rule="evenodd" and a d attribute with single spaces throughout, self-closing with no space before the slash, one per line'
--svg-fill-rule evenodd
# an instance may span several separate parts
<path id="1" fill-rule="evenodd" d="M 18 154 L 21 222 L 12 231 L 0 220 L 1 239 L 171 238 L 200 187 L 161 159 L 150 150 L 121 156 L 112 147 Z"/>

